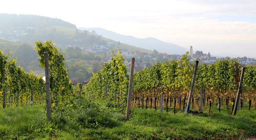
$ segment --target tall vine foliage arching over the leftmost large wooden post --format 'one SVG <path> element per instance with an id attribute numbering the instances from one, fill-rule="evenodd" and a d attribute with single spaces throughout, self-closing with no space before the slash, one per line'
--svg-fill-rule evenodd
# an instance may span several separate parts
<path id="1" fill-rule="evenodd" d="M 48 52 L 51 107 L 54 113 L 55 110 L 68 104 L 73 99 L 73 85 L 69 80 L 68 70 L 65 69 L 65 58 L 58 52 L 53 42 L 46 41 L 43 43 L 38 41 L 35 44 L 41 68 L 45 68 L 44 52 Z"/>

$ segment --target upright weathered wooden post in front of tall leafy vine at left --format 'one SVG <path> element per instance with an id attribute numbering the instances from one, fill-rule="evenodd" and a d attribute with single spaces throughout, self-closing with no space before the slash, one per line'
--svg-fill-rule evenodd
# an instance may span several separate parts
<path id="1" fill-rule="evenodd" d="M 52 119 L 51 113 L 51 95 L 50 95 L 50 79 L 49 79 L 49 60 L 48 52 L 44 53 L 45 55 L 45 71 L 46 71 L 46 107 L 47 107 L 47 119 Z"/>

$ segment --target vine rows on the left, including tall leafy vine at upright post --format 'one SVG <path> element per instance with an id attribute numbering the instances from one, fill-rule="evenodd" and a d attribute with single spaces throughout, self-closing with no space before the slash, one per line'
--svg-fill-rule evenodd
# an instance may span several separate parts
<path id="1" fill-rule="evenodd" d="M 73 86 L 64 68 L 64 57 L 58 52 L 52 41 L 45 43 L 36 42 L 39 66 L 44 68 L 44 52 L 49 53 L 51 107 L 57 110 L 67 104 L 73 97 Z M 0 103 L 5 107 L 45 103 L 46 84 L 42 76 L 36 77 L 33 72 L 25 72 L 20 66 L 15 65 L 16 59 L 4 55 L 0 50 Z"/>

